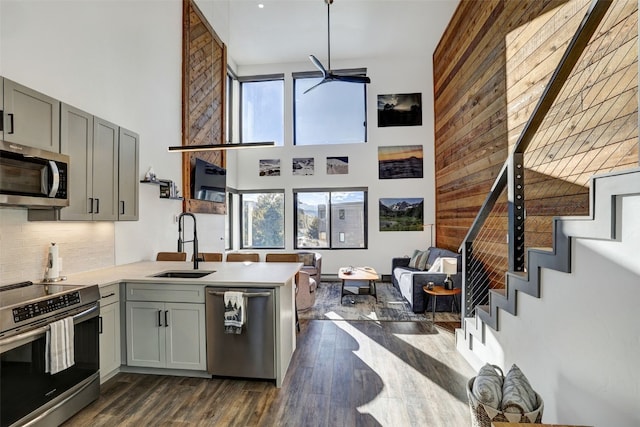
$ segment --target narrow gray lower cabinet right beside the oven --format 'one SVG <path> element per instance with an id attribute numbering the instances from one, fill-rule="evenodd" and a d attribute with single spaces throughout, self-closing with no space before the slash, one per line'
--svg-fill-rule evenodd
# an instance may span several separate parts
<path id="1" fill-rule="evenodd" d="M 100 288 L 100 382 L 120 368 L 120 285 Z"/>

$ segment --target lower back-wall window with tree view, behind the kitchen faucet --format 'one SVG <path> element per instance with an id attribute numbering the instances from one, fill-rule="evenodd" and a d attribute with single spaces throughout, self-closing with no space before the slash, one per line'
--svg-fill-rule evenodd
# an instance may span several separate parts
<path id="1" fill-rule="evenodd" d="M 240 193 L 241 247 L 284 248 L 284 191 Z"/>

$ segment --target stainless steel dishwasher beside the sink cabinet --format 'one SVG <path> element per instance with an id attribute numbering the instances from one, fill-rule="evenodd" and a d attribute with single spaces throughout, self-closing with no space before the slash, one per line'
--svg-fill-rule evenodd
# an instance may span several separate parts
<path id="1" fill-rule="evenodd" d="M 207 287 L 207 371 L 212 375 L 276 378 L 274 289 Z M 224 332 L 224 293 L 244 293 L 241 334 Z"/>

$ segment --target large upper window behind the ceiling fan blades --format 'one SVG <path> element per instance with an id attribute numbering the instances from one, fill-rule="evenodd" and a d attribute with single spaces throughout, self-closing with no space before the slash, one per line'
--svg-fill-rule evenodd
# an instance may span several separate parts
<path id="1" fill-rule="evenodd" d="M 362 75 L 366 70 L 339 73 Z M 366 142 L 367 85 L 334 81 L 304 93 L 321 80 L 317 73 L 293 75 L 294 145 Z"/>

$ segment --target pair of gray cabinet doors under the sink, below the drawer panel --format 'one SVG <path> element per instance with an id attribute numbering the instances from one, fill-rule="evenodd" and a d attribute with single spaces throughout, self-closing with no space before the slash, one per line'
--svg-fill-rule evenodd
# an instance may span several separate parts
<path id="1" fill-rule="evenodd" d="M 204 304 L 127 301 L 127 365 L 205 371 Z"/>

